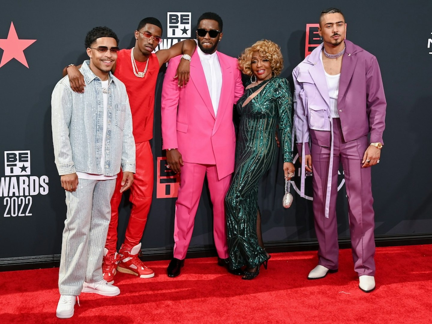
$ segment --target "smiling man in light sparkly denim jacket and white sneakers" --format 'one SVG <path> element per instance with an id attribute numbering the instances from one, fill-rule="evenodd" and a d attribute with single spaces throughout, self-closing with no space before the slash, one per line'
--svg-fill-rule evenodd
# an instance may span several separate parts
<path id="1" fill-rule="evenodd" d="M 103 280 L 102 256 L 111 218 L 110 200 L 123 169 L 122 191 L 133 182 L 135 141 L 124 84 L 110 72 L 118 38 L 107 27 L 86 36 L 81 73 L 86 92 L 76 93 L 65 76 L 51 99 L 55 163 L 66 191 L 67 216 L 59 271 L 57 317 L 70 318 L 81 292 L 115 296 L 116 286 Z"/>

